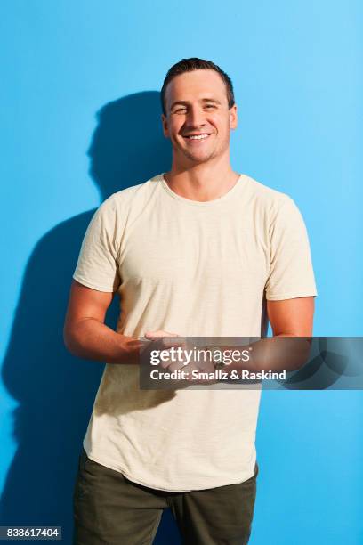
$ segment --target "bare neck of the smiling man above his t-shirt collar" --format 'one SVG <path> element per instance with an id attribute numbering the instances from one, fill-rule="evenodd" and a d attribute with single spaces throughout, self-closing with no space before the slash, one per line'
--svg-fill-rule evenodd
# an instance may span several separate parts
<path id="1" fill-rule="evenodd" d="M 191 167 L 181 167 L 173 161 L 171 170 L 165 173 L 165 180 L 174 193 L 200 202 L 221 198 L 237 183 L 238 177 L 230 162 L 215 161 Z"/>

